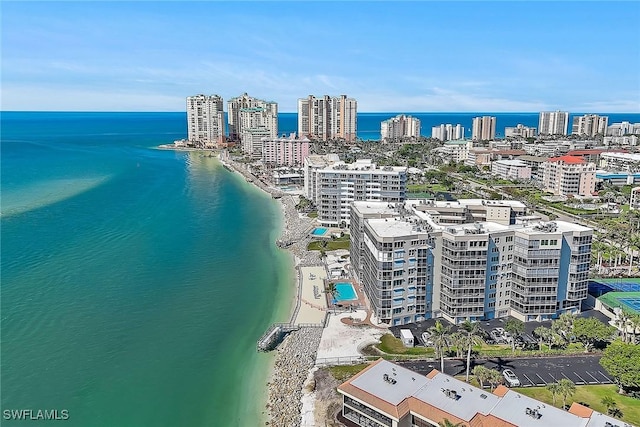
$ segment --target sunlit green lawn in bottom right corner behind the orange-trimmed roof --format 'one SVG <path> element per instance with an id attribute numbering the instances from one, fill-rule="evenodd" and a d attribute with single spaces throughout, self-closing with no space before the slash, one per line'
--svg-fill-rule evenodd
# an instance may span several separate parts
<path id="1" fill-rule="evenodd" d="M 515 388 L 518 393 L 533 397 L 548 404 L 553 404 L 551 393 L 545 387 L 526 387 Z M 618 394 L 618 386 L 616 385 L 579 385 L 576 386 L 576 394 L 567 399 L 567 404 L 573 402 L 583 402 L 589 405 L 594 411 L 607 413 L 607 407 L 600 401 L 603 397 L 610 396 L 616 402 L 618 409 L 622 411 L 622 421 L 640 425 L 640 400 L 628 396 Z M 562 406 L 562 398 L 556 398 L 556 406 Z"/>

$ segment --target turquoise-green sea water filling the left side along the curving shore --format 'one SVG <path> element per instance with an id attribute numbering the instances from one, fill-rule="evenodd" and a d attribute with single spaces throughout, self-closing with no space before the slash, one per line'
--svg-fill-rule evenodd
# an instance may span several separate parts
<path id="1" fill-rule="evenodd" d="M 1 118 L 2 410 L 261 424 L 256 340 L 293 289 L 278 205 L 214 158 L 153 149 L 184 114 Z"/>

